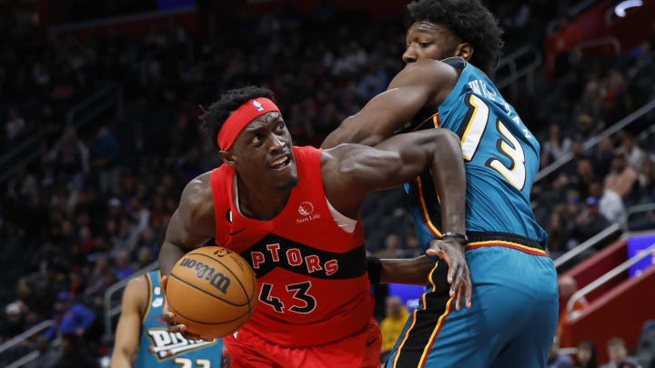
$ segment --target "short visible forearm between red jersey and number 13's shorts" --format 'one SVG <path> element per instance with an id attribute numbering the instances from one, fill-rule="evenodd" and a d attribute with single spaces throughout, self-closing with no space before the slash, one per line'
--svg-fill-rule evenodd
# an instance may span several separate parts
<path id="1" fill-rule="evenodd" d="M 380 283 L 423 285 L 428 282 L 435 263 L 428 256 L 421 255 L 413 259 L 383 259 L 381 265 Z"/>

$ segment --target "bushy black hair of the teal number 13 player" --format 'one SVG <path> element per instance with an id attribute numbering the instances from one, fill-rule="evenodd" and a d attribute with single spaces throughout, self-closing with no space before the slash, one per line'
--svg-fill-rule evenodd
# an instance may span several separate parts
<path id="1" fill-rule="evenodd" d="M 487 75 L 498 65 L 504 45 L 498 19 L 480 0 L 418 0 L 408 5 L 414 22 L 445 25 L 473 46 L 470 63 Z"/>

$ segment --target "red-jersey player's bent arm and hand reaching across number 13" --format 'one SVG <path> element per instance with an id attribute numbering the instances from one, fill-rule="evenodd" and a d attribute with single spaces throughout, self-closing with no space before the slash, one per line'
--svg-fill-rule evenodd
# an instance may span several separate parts
<path id="1" fill-rule="evenodd" d="M 456 134 L 447 129 L 398 134 L 375 148 L 341 144 L 323 152 L 323 184 L 332 205 L 350 218 L 357 218 L 364 197 L 370 192 L 414 180 L 430 170 L 442 207 L 444 232 L 465 234 L 464 203 L 466 174 Z M 430 243 L 428 254 L 438 255 L 449 266 L 450 294 L 457 293 L 470 305 L 471 283 L 464 258 L 466 244 L 459 238 Z M 424 280 L 427 280 L 428 274 Z"/>

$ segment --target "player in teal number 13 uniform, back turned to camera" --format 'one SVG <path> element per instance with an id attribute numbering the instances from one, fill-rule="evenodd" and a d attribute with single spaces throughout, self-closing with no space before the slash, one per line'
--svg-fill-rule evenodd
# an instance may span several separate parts
<path id="1" fill-rule="evenodd" d="M 415 23 L 407 66 L 323 146 L 375 145 L 434 128 L 459 134 L 467 234 L 441 232 L 433 173 L 406 189 L 424 249 L 435 238 L 468 243 L 473 292 L 468 308 L 453 308 L 460 292 L 438 262 L 387 367 L 544 367 L 558 317 L 557 275 L 529 201 L 539 143 L 488 76 L 502 47 L 498 23 L 479 0 L 420 0 L 408 9 Z"/>

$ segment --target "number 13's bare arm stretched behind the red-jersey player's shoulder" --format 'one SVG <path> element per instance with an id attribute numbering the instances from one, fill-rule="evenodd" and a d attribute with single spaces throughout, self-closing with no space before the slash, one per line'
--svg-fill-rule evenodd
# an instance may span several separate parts
<path id="1" fill-rule="evenodd" d="M 436 60 L 409 64 L 358 114 L 328 135 L 323 148 L 355 143 L 376 145 L 407 124 L 421 108 L 442 102 L 457 82 L 457 72 Z"/>

